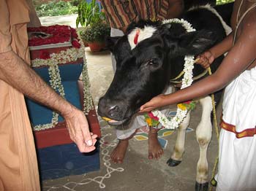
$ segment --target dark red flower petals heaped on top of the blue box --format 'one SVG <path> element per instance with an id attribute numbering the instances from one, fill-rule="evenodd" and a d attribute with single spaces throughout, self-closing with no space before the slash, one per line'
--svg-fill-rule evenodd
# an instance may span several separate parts
<path id="1" fill-rule="evenodd" d="M 72 46 L 80 48 L 80 43 L 78 42 L 78 34 L 75 31 L 75 28 L 70 26 L 40 26 L 40 27 L 30 27 L 28 28 L 30 33 L 43 33 L 47 36 L 38 37 L 32 36 L 29 39 L 29 47 L 40 46 L 45 44 L 59 44 L 64 42 L 72 42 Z"/>

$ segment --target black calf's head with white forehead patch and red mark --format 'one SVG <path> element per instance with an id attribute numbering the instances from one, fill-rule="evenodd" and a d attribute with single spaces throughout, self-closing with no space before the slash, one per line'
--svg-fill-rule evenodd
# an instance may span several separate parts
<path id="1" fill-rule="evenodd" d="M 111 125 L 129 122 L 142 104 L 165 90 L 173 65 L 182 71 L 184 55 L 197 55 L 213 43 L 209 31 L 187 33 L 178 23 L 150 21 L 132 24 L 126 35 L 108 39 L 116 73 L 99 99 L 99 115 L 110 118 Z"/>

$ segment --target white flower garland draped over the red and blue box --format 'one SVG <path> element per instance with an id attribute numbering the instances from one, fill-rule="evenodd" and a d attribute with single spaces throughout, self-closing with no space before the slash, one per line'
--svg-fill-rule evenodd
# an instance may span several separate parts
<path id="1" fill-rule="evenodd" d="M 61 75 L 59 71 L 58 64 L 60 63 L 68 63 L 71 61 L 77 61 L 78 58 L 83 58 L 83 71 L 82 71 L 82 81 L 83 81 L 83 112 L 84 114 L 88 114 L 88 112 L 94 108 L 91 93 L 90 93 L 90 82 L 89 75 L 87 69 L 87 62 L 85 56 L 85 48 L 83 42 L 79 42 L 81 44 L 80 48 L 71 47 L 67 50 L 61 50 L 59 53 L 50 54 L 50 58 L 48 59 L 34 59 L 31 61 L 32 67 L 40 67 L 40 66 L 49 66 L 49 76 L 50 76 L 50 86 L 53 87 L 54 90 L 59 91 L 59 94 L 64 98 L 64 87 L 61 84 Z M 35 125 L 33 127 L 34 130 L 45 130 L 48 128 L 54 128 L 55 125 L 58 124 L 59 114 L 57 112 L 53 112 L 53 118 L 50 123 L 44 125 Z"/>

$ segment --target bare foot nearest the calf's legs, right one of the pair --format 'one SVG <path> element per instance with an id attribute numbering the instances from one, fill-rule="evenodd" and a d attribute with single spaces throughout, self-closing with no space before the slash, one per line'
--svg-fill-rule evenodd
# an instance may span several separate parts
<path id="1" fill-rule="evenodd" d="M 149 128 L 148 132 L 148 159 L 159 159 L 164 154 L 164 150 L 157 139 L 157 131 L 159 129 Z"/>

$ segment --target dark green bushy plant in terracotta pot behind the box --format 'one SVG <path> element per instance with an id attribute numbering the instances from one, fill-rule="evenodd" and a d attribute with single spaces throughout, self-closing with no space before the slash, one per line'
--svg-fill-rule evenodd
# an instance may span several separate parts
<path id="1" fill-rule="evenodd" d="M 80 38 L 88 43 L 91 52 L 102 50 L 107 36 L 110 36 L 110 26 L 103 20 L 99 23 L 91 23 L 80 31 Z"/>

